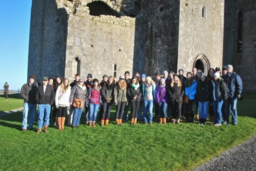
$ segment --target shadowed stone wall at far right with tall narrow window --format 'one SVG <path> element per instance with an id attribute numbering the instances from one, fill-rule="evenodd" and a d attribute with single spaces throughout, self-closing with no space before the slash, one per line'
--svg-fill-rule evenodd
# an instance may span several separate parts
<path id="1" fill-rule="evenodd" d="M 242 53 L 237 53 L 237 13 L 243 12 Z M 244 91 L 256 91 L 256 1 L 225 1 L 223 65 L 231 64 L 243 81 Z"/>

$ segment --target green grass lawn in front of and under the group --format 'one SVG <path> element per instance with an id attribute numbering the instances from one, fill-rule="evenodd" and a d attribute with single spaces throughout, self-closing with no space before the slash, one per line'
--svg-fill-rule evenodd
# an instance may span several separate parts
<path id="1" fill-rule="evenodd" d="M 238 126 L 118 126 L 112 119 L 109 126 L 89 128 L 83 114 L 78 129 L 50 127 L 47 134 L 36 134 L 21 131 L 22 112 L 5 115 L 0 117 L 0 170 L 187 171 L 256 134 L 254 96 L 238 101 Z"/>

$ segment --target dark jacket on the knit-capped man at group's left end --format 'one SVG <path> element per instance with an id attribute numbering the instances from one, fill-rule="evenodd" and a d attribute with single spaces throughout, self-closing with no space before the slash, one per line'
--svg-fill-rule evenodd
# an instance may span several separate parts
<path id="1" fill-rule="evenodd" d="M 29 83 L 24 84 L 21 87 L 21 96 L 24 99 L 24 103 L 32 103 L 36 104 L 36 91 L 38 85 L 33 82 L 33 84 L 29 85 Z"/>

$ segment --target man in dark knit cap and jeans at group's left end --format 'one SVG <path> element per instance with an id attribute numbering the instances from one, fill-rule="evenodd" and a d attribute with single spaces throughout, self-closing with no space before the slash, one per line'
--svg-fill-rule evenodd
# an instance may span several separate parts
<path id="1" fill-rule="evenodd" d="M 22 131 L 27 130 L 28 115 L 29 126 L 28 129 L 33 129 L 33 123 L 36 115 L 36 91 L 38 85 L 35 83 L 36 76 L 34 74 L 29 76 L 28 83 L 21 87 L 21 96 L 24 99 L 23 117 L 22 117 Z"/>

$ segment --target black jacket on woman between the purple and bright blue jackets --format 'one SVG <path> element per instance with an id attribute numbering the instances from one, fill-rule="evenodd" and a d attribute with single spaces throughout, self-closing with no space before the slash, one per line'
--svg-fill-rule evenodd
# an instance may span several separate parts
<path id="1" fill-rule="evenodd" d="M 168 86 L 169 101 L 182 101 L 184 93 L 185 91 L 183 86 L 178 87 L 178 84 L 174 84 L 173 87 Z"/>

